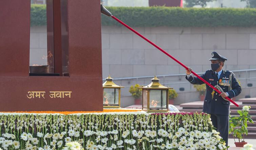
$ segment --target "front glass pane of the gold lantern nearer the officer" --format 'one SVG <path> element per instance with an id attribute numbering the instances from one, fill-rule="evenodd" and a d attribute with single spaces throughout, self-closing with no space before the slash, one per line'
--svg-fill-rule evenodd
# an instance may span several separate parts
<path id="1" fill-rule="evenodd" d="M 150 108 L 166 108 L 166 90 L 150 90 Z"/>

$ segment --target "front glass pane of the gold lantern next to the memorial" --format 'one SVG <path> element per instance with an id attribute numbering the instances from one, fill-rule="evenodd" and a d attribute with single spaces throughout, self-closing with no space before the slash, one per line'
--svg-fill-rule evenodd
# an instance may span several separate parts
<path id="1" fill-rule="evenodd" d="M 118 105 L 118 88 L 103 88 L 103 104 Z"/>

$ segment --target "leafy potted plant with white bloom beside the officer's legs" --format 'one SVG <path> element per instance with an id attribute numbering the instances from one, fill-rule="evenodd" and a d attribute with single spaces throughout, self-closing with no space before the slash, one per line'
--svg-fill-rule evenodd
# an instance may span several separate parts
<path id="1" fill-rule="evenodd" d="M 237 110 L 239 116 L 229 116 L 229 133 L 233 134 L 236 147 L 243 147 L 247 142 L 244 141 L 244 135 L 248 134 L 247 121 L 254 123 L 249 109 L 251 106 L 243 106 L 242 110 Z M 235 137 L 238 138 L 236 142 Z"/>

